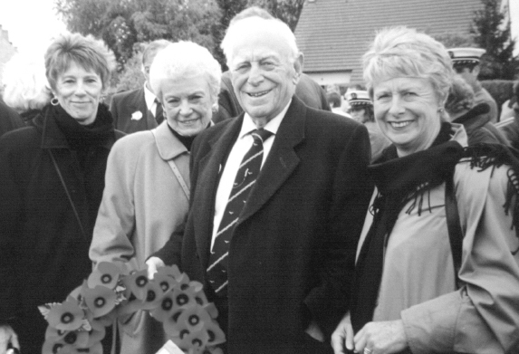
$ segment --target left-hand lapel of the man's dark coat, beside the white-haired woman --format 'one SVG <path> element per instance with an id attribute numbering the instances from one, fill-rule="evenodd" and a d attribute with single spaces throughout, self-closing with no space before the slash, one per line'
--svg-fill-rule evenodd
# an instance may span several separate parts
<path id="1" fill-rule="evenodd" d="M 215 216 L 216 189 L 220 180 L 221 170 L 224 168 L 225 159 L 229 150 L 233 147 L 236 137 L 242 127 L 244 114 L 229 122 L 221 134 L 212 137 L 209 141 L 207 155 L 198 163 L 198 179 L 194 205 L 191 213 L 196 217 L 195 234 L 197 250 L 200 261 L 204 267 L 209 262 L 209 249 L 213 232 L 213 218 Z"/>

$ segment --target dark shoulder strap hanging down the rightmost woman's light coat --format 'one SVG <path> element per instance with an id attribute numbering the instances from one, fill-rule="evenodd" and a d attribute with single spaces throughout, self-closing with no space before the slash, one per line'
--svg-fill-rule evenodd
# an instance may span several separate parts
<path id="1" fill-rule="evenodd" d="M 452 260 L 454 263 L 454 275 L 456 279 L 456 287 L 459 289 L 463 284 L 458 277 L 459 268 L 461 266 L 463 230 L 459 221 L 459 212 L 457 210 L 456 191 L 454 188 L 454 171 L 452 175 L 447 177 L 445 182 L 445 212 L 447 216 L 448 240 L 452 252 Z"/>

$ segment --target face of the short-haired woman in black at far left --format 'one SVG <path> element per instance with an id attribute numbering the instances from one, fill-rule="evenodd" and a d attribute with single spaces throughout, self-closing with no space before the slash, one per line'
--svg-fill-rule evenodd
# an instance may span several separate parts
<path id="1" fill-rule="evenodd" d="M 75 62 L 58 76 L 53 91 L 62 108 L 82 125 L 95 121 L 101 93 L 101 76 Z"/>

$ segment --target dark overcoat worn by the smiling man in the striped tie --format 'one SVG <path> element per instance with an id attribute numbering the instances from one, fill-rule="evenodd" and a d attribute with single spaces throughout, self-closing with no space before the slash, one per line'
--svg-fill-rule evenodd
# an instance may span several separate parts
<path id="1" fill-rule="evenodd" d="M 199 282 L 206 283 L 219 171 L 243 119 L 195 139 L 184 236 L 173 234 L 155 254 Z M 372 192 L 369 161 L 364 126 L 293 97 L 230 243 L 229 353 L 314 352 L 304 332 L 310 321 L 327 334 L 335 328 L 348 309 Z"/>

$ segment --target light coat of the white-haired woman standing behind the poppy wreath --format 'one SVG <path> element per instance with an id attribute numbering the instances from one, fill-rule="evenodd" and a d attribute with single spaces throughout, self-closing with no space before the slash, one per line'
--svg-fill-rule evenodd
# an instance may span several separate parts
<path id="1" fill-rule="evenodd" d="M 187 216 L 189 153 L 164 121 L 157 129 L 120 139 L 111 149 L 105 180 L 91 260 L 143 269 Z M 121 353 L 151 354 L 164 344 L 161 325 L 148 316 L 139 312 L 122 325 Z"/>

